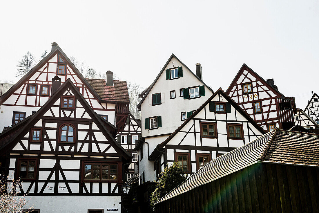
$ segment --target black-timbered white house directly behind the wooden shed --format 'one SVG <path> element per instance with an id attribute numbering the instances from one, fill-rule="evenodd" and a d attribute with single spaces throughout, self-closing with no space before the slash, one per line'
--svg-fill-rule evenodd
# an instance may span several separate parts
<path id="1" fill-rule="evenodd" d="M 173 134 L 157 145 L 149 160 L 156 178 L 168 164 L 178 162 L 193 174 L 212 159 L 241 147 L 264 130 L 219 88 Z"/>

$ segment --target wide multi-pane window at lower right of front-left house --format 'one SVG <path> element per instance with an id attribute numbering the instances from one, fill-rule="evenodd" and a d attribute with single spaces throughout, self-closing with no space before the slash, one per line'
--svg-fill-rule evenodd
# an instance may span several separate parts
<path id="1" fill-rule="evenodd" d="M 86 180 L 117 180 L 117 164 L 84 163 L 84 181 Z"/>

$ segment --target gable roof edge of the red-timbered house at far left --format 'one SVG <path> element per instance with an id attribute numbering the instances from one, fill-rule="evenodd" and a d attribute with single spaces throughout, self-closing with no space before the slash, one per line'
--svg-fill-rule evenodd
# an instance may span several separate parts
<path id="1" fill-rule="evenodd" d="M 62 49 L 59 46 L 56 46 L 46 57 L 44 57 L 37 65 L 35 65 L 28 73 L 26 73 L 17 83 L 13 85 L 6 93 L 0 96 L 0 104 L 2 104 L 5 100 L 7 100 L 10 95 L 17 90 L 23 83 L 27 81 L 35 72 L 40 69 L 45 62 L 47 62 L 51 57 L 53 57 L 57 52 L 59 52 L 67 61 L 67 64 L 71 66 L 72 70 L 78 75 L 79 79 L 85 84 L 86 87 L 90 89 L 92 94 L 98 99 L 101 100 L 100 96 L 96 93 L 96 91 L 91 87 L 91 85 L 86 81 L 83 75 L 78 71 L 78 69 L 74 66 L 74 64 L 70 61 L 70 59 L 65 55 Z"/>

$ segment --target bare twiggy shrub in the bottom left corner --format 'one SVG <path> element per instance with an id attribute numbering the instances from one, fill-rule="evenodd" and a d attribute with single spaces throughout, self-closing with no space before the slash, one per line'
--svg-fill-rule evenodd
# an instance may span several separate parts
<path id="1" fill-rule="evenodd" d="M 12 176 L 13 174 L 11 174 Z M 28 204 L 27 194 L 19 195 L 20 178 L 11 182 L 9 178 L 2 175 L 0 180 L 0 212 L 1 213 L 21 213 L 31 212 L 34 205 Z"/>

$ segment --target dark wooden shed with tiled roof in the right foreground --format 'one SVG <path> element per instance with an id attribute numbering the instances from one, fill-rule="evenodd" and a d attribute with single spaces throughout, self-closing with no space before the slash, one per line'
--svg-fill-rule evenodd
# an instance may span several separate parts
<path id="1" fill-rule="evenodd" d="M 220 156 L 155 203 L 167 212 L 318 212 L 319 134 L 275 128 Z"/>

